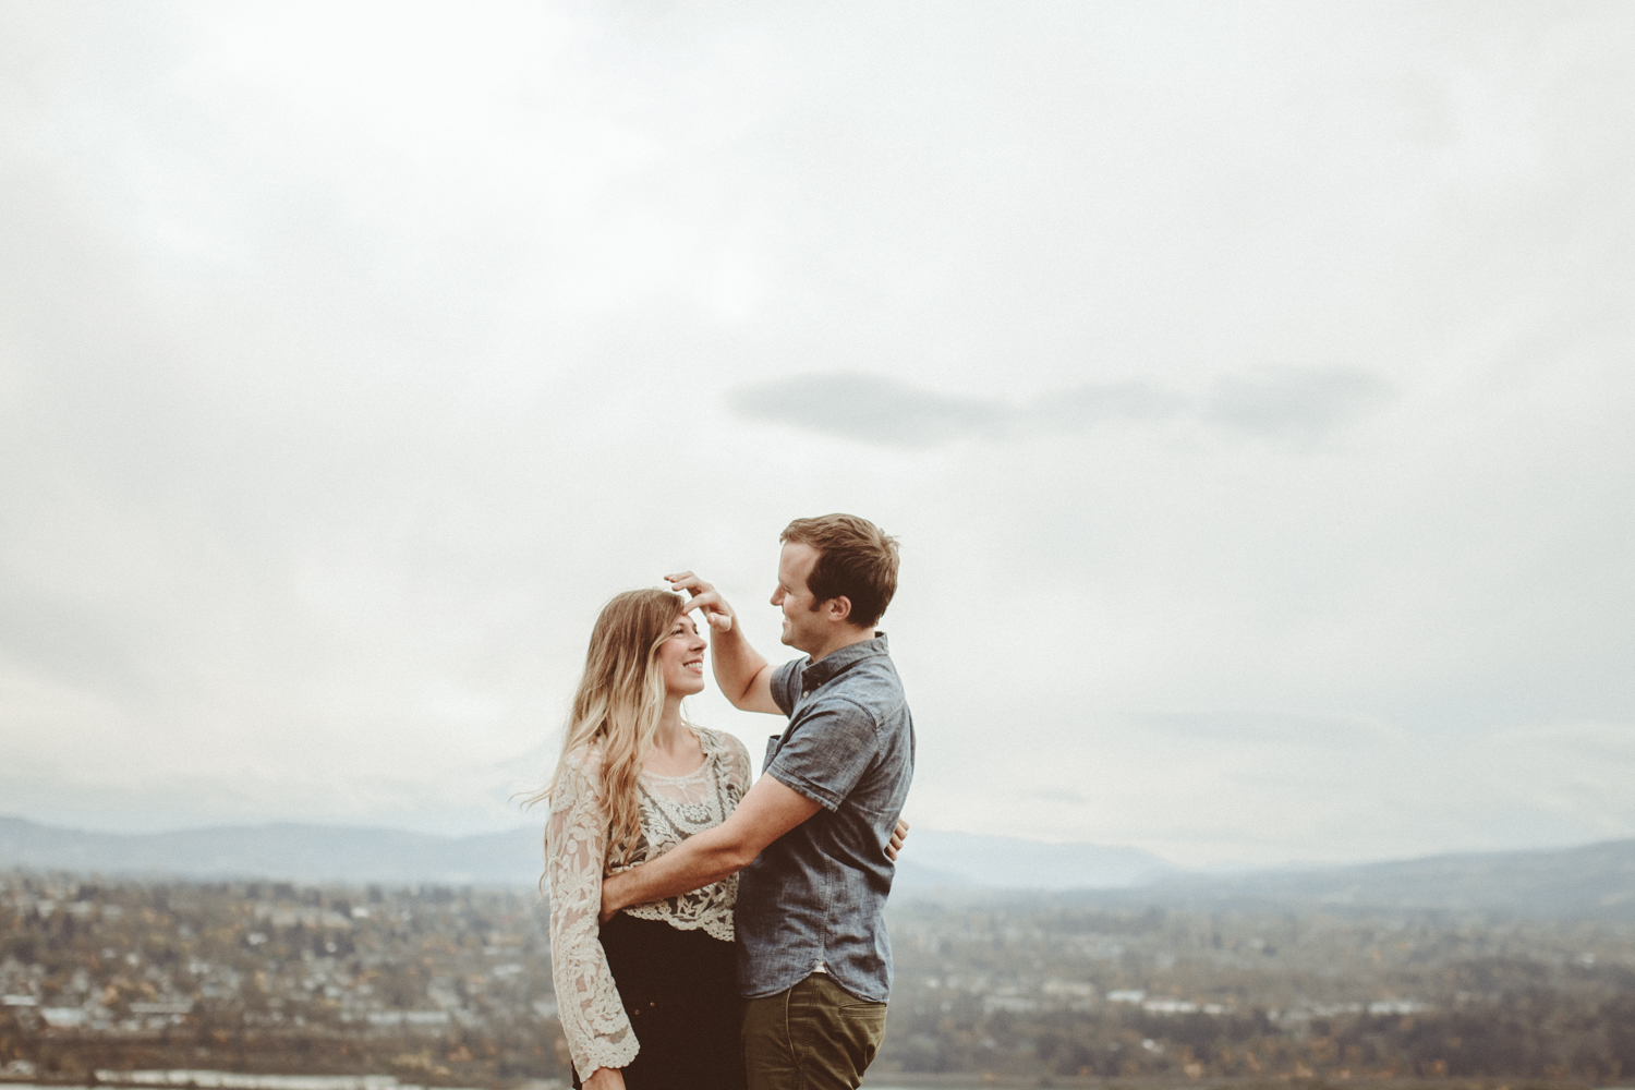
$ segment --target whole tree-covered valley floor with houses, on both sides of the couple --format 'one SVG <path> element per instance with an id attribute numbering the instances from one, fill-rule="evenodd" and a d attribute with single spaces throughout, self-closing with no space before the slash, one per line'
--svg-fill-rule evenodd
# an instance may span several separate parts
<path id="1" fill-rule="evenodd" d="M 92 884 L 0 874 L 0 1067 L 567 1074 L 526 891 Z M 1635 1075 L 1635 925 L 893 909 L 881 1074 Z"/>

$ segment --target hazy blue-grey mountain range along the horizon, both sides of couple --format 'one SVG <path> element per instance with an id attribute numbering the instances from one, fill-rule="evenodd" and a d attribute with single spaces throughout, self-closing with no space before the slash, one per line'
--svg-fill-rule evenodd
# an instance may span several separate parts
<path id="1" fill-rule="evenodd" d="M 260 878 L 309 882 L 535 886 L 538 829 L 430 837 L 387 829 L 250 825 L 92 833 L 0 817 L 0 869 Z M 1035 891 L 1109 907 L 1439 910 L 1635 920 L 1635 840 L 1583 848 L 1440 855 L 1357 866 L 1187 873 L 1141 851 L 1089 843 L 914 830 L 899 896 L 1004 897 Z"/>

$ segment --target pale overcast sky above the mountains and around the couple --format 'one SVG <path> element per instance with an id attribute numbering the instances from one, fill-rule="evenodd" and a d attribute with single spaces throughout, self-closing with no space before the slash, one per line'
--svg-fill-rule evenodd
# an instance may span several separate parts
<path id="1" fill-rule="evenodd" d="M 513 827 L 845 510 L 922 827 L 1635 835 L 1632 176 L 1620 3 L 7 0 L 0 812 Z"/>

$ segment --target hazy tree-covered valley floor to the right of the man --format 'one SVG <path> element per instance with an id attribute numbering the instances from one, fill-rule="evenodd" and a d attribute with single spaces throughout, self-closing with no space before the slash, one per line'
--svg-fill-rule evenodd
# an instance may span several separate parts
<path id="1" fill-rule="evenodd" d="M 903 905 L 880 1062 L 1176 1079 L 1635 1075 L 1635 927 Z"/>

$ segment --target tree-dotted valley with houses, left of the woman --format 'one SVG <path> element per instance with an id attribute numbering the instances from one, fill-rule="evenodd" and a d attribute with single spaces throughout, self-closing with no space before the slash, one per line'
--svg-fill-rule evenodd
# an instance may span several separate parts
<path id="1" fill-rule="evenodd" d="M 44 1079 L 561 1077 L 549 981 L 536 894 L 0 879 L 0 1067 Z"/>

